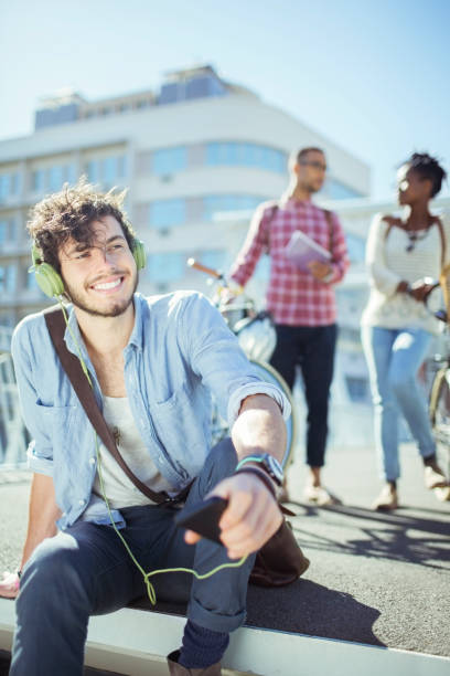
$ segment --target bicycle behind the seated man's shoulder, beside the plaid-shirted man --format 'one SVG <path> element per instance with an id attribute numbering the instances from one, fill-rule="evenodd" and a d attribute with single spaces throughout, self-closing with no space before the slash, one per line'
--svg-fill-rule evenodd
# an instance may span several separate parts
<path id="1" fill-rule="evenodd" d="M 285 381 L 282 376 L 268 363 L 276 344 L 276 332 L 270 315 L 266 310 L 257 311 L 255 308 L 255 302 L 243 294 L 240 294 L 233 302 L 224 302 L 223 292 L 225 289 L 229 289 L 229 285 L 225 276 L 221 272 L 213 270 L 212 267 L 207 267 L 194 258 L 189 258 L 188 265 L 210 275 L 212 283 L 215 282 L 216 288 L 215 293 L 212 295 L 212 302 L 224 317 L 228 328 L 237 337 L 240 347 L 247 355 L 247 358 L 253 365 L 257 376 L 259 376 L 261 380 L 277 385 L 289 400 L 292 412 L 289 420 L 286 421 L 288 439 L 285 457 L 281 463 L 282 467 L 287 469 L 293 460 L 297 420 L 292 401 L 292 392 L 288 383 Z M 221 418 L 214 401 L 211 424 L 213 444 L 218 443 L 221 439 L 229 434 L 228 425 L 226 421 Z"/>

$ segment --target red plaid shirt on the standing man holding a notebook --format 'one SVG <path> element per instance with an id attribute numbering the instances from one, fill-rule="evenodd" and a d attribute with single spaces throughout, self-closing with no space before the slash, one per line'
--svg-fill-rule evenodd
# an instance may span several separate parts
<path id="1" fill-rule="evenodd" d="M 278 209 L 276 209 L 278 207 Z M 326 326 L 334 324 L 336 307 L 333 284 L 347 267 L 345 236 L 335 213 L 331 213 L 332 235 L 325 213 L 309 201 L 294 199 L 260 204 L 251 220 L 247 239 L 231 271 L 231 278 L 244 286 L 264 253 L 270 254 L 267 309 L 277 324 Z M 332 275 L 319 282 L 301 272 L 283 250 L 294 230 L 301 230 L 332 254 Z"/>

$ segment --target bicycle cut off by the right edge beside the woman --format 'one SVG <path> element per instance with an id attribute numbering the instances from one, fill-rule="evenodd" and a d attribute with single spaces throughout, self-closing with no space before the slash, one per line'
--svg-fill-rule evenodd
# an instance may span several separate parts
<path id="1" fill-rule="evenodd" d="M 442 309 L 442 293 L 439 282 L 431 281 L 431 289 L 425 298 L 428 310 L 440 321 L 446 324 L 444 334 L 450 339 L 448 315 Z M 433 436 L 438 447 L 443 450 L 446 457 L 447 478 L 450 478 L 450 344 L 446 348 L 446 355 L 435 355 L 435 363 L 439 365 L 430 385 L 428 413 Z M 450 486 L 435 488 L 439 492 L 442 500 L 450 499 Z M 442 495 L 440 495 L 442 494 Z"/>

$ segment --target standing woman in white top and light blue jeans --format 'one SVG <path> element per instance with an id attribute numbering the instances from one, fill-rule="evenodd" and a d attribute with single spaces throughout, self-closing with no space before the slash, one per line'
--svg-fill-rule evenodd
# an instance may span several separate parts
<path id="1" fill-rule="evenodd" d="M 362 342 L 375 408 L 375 445 L 383 489 L 377 510 L 398 507 L 398 424 L 403 414 L 424 462 L 426 488 L 447 485 L 437 463 L 426 401 L 417 373 L 439 321 L 425 307 L 429 278 L 450 262 L 450 220 L 429 202 L 446 178 L 438 160 L 415 152 L 398 170 L 401 218 L 377 214 L 371 225 L 366 263 L 371 294 L 362 317 Z M 428 278 L 428 279 L 427 279 Z"/>

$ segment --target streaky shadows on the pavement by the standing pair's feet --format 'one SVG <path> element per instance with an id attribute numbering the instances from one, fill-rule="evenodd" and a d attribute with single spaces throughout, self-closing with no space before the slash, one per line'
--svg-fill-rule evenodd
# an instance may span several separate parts
<path id="1" fill-rule="evenodd" d="M 449 570 L 450 526 L 448 519 L 439 520 L 408 515 L 406 509 L 383 514 L 350 505 L 322 508 L 293 501 L 289 505 L 299 508 L 299 514 L 293 517 L 292 527 L 302 546 L 329 552 L 369 556 L 419 563 L 437 570 Z M 417 511 L 425 510 L 417 509 Z M 301 526 L 304 518 L 320 518 L 323 526 L 332 522 L 335 527 L 336 516 L 344 518 L 342 525 L 347 531 L 351 531 L 350 537 L 344 536 L 342 540 L 326 537 L 317 530 L 311 532 Z M 354 538 L 354 531 L 360 532 L 361 537 Z"/>

